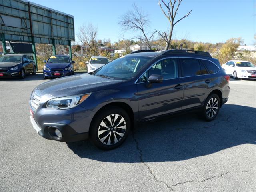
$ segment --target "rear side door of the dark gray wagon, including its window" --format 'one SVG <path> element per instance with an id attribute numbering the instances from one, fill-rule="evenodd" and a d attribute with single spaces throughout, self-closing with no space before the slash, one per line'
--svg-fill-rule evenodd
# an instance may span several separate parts
<path id="1" fill-rule="evenodd" d="M 181 108 L 183 110 L 199 107 L 214 86 L 214 79 L 197 58 L 180 58 L 180 64 L 184 81 L 184 98 Z"/>

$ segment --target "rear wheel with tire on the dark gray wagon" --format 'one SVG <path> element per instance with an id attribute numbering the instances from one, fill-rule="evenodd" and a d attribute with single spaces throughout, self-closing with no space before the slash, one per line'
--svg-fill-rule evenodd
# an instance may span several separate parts
<path id="1" fill-rule="evenodd" d="M 217 109 L 216 109 L 216 100 L 218 101 Z M 206 98 L 205 100 L 204 107 L 202 110 L 202 116 L 206 121 L 212 121 L 218 115 L 219 110 L 220 110 L 219 96 L 217 94 L 210 94 L 208 98 Z"/>

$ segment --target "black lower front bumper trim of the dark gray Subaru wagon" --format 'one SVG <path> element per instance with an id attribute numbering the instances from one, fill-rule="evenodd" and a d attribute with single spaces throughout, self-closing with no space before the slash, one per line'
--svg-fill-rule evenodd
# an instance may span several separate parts
<path id="1" fill-rule="evenodd" d="M 56 141 L 62 141 L 62 142 L 75 142 L 75 141 L 86 140 L 89 138 L 89 132 L 77 133 L 68 124 L 44 123 L 42 124 L 42 126 L 39 126 L 32 116 L 30 116 L 30 122 L 34 130 L 36 130 L 36 132 L 40 136 L 49 140 L 56 140 Z M 55 129 L 58 129 L 61 132 L 62 134 L 61 138 L 58 138 L 55 135 L 54 133 Z"/>

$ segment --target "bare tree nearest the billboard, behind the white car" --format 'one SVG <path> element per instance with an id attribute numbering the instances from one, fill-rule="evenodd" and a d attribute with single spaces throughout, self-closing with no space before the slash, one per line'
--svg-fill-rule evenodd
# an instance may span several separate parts
<path id="1" fill-rule="evenodd" d="M 93 54 L 94 56 L 96 56 L 98 53 L 97 33 L 98 33 L 98 28 L 93 26 L 91 23 L 89 23 L 89 24 L 83 24 L 79 28 L 79 33 L 77 34 L 78 39 L 82 42 L 82 44 L 89 47 L 90 53 Z"/>

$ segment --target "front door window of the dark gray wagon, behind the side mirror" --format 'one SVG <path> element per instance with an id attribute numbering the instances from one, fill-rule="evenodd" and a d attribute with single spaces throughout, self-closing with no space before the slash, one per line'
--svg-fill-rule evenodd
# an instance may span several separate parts
<path id="1" fill-rule="evenodd" d="M 162 75 L 164 80 L 178 78 L 178 60 L 170 58 L 157 62 L 142 75 L 138 82 L 147 82 L 152 74 Z"/>

